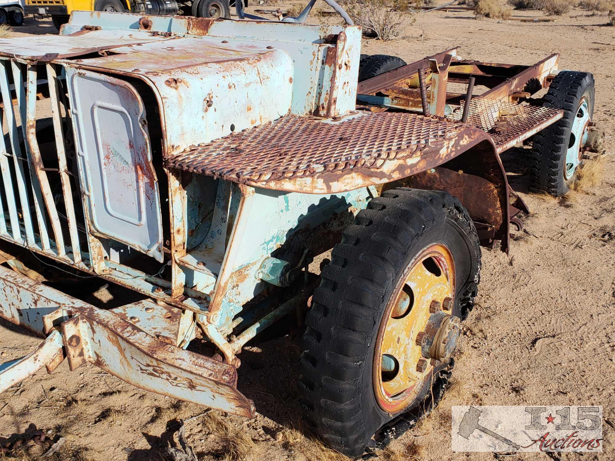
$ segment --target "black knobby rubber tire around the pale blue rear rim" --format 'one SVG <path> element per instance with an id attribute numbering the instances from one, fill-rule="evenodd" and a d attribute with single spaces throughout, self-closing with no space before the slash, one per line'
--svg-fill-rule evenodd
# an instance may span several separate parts
<path id="1" fill-rule="evenodd" d="M 594 103 L 592 74 L 561 71 L 551 82 L 543 105 L 548 108 L 563 109 L 564 116 L 533 137 L 530 191 L 544 191 L 556 197 L 568 192 L 575 177 L 574 175 L 570 178 L 565 177 L 566 151 L 571 141 L 574 117 L 584 99 L 587 100 L 591 118 Z"/>

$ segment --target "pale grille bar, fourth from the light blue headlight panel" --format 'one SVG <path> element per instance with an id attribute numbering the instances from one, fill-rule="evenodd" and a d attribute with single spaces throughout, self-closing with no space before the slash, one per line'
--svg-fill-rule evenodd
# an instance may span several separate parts
<path id="1" fill-rule="evenodd" d="M 9 61 L 2 61 L 0 65 L 0 92 L 2 92 L 2 101 L 4 101 L 4 111 L 9 127 L 10 146 L 13 162 L 15 164 L 15 178 L 17 179 L 19 200 L 22 205 L 23 227 L 25 227 L 26 230 L 26 242 L 28 245 L 38 248 L 38 244 L 34 240 L 32 216 L 30 216 L 30 202 L 28 201 L 28 191 L 26 190 L 26 174 L 25 171 L 23 171 L 21 160 L 22 149 L 19 147 L 19 136 L 17 134 L 17 123 L 15 122 L 13 99 L 10 95 L 8 67 Z M 15 85 L 15 87 L 17 87 L 17 85 Z M 15 223 L 15 226 L 18 227 L 18 223 Z M 11 224 L 11 227 L 13 227 L 13 224 Z"/>

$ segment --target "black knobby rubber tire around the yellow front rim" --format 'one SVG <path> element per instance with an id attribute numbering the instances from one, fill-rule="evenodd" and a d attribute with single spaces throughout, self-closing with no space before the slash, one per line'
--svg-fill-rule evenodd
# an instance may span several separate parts
<path id="1" fill-rule="evenodd" d="M 434 243 L 444 243 L 453 254 L 452 313 L 464 318 L 477 294 L 481 252 L 474 223 L 446 192 L 406 187 L 383 192 L 344 231 L 322 270 L 306 317 L 298 386 L 308 427 L 344 454 L 362 454 L 378 428 L 395 417 L 376 401 L 376 337 L 403 271 Z M 441 364 L 434 372 L 445 368 Z M 428 374 L 424 382 L 429 380 Z M 403 412 L 426 400 L 430 390 L 423 385 Z"/>

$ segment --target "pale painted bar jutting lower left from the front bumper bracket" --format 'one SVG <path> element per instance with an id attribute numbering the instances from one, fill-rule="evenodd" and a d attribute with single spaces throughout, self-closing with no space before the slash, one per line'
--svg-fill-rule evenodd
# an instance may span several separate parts
<path id="1" fill-rule="evenodd" d="M 0 392 L 32 376 L 42 367 L 62 357 L 62 334 L 54 330 L 47 339 L 25 357 L 0 365 Z"/>

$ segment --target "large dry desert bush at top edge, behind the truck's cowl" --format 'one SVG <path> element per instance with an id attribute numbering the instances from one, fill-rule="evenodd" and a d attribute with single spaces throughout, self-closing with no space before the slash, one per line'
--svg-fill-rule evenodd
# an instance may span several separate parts
<path id="1" fill-rule="evenodd" d="M 380 40 L 393 40 L 404 28 L 412 25 L 416 18 L 408 2 L 402 0 L 355 0 L 344 5 L 356 25 L 363 33 Z"/>

